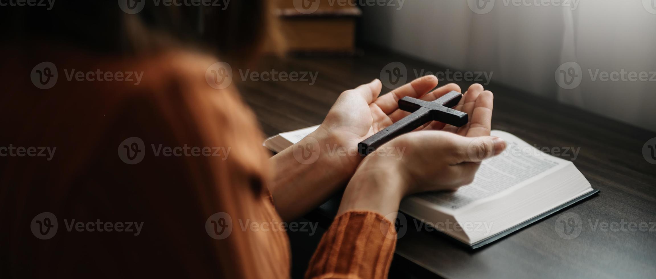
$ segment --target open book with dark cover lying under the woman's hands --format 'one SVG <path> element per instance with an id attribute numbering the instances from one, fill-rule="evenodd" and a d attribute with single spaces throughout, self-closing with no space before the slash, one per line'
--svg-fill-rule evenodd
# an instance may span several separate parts
<path id="1" fill-rule="evenodd" d="M 317 127 L 281 133 L 264 146 L 280 152 Z M 493 130 L 491 135 L 506 140 L 506 150 L 483 161 L 474 182 L 455 192 L 409 196 L 400 211 L 478 248 L 599 192 L 571 161 L 541 152 L 511 133 Z"/>

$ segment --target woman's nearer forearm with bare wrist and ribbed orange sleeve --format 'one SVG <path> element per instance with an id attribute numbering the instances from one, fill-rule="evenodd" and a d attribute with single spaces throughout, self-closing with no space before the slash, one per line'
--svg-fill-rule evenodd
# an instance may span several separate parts
<path id="1" fill-rule="evenodd" d="M 405 189 L 402 177 L 398 165 L 360 165 L 310 260 L 307 278 L 387 278 L 397 238 L 394 219 Z"/>

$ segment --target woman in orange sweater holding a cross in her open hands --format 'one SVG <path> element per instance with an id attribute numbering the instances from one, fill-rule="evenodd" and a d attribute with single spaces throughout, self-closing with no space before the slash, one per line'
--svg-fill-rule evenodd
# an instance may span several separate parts
<path id="1" fill-rule="evenodd" d="M 298 143 L 319 143 L 316 162 L 300 163 L 294 147 L 268 158 L 236 89 L 205 81 L 218 60 L 190 47 L 203 41 L 222 61 L 247 65 L 275 33 L 268 3 L 233 1 L 224 10 L 146 4 L 137 14 L 119 9 L 121 1 L 55 5 L 3 8 L 1 16 L 14 27 L 3 35 L 0 66 L 3 145 L 53 151 L 50 158 L 1 158 L 3 278 L 285 278 L 285 232 L 242 229 L 241 222 L 293 220 L 346 181 L 306 277 L 384 278 L 401 198 L 467 184 L 476 161 L 505 147 L 489 137 L 492 93 L 472 85 L 456 107 L 470 123 L 433 122 L 382 147 L 405 148 L 401 160 L 331 157 L 323 149 L 353 149 L 407 115 L 399 98 L 460 91 L 453 84 L 431 91 L 438 80 L 429 75 L 380 97 L 376 79 L 344 91 L 319 129 Z M 54 66 L 35 66 L 42 62 Z M 138 80 L 116 78 L 129 73 Z M 230 152 L 160 152 L 182 146 Z"/>

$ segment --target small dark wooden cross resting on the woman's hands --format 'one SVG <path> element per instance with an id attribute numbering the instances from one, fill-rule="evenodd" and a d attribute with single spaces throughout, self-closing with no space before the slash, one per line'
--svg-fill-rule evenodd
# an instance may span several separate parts
<path id="1" fill-rule="evenodd" d="M 440 121 L 461 127 L 468 121 L 467 114 L 453 109 L 461 98 L 462 94 L 457 91 L 451 91 L 432 102 L 412 97 L 401 98 L 399 108 L 412 113 L 360 142 L 358 144 L 359 154 L 367 156 L 385 142 L 414 131 L 429 121 Z"/>

